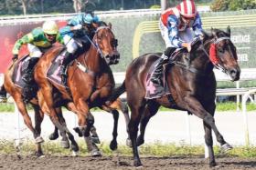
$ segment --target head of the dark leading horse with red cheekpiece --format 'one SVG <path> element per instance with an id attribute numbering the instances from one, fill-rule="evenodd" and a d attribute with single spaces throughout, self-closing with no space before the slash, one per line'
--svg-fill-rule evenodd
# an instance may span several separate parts
<path id="1" fill-rule="evenodd" d="M 240 66 L 235 45 L 230 40 L 230 28 L 227 32 L 211 29 L 206 34 L 204 44 L 209 45 L 209 60 L 217 68 L 228 74 L 232 81 L 240 79 Z"/>

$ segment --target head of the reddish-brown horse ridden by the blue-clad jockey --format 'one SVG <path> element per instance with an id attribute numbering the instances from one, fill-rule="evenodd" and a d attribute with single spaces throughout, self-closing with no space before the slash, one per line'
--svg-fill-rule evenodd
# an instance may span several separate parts
<path id="1" fill-rule="evenodd" d="M 117 51 L 117 39 L 112 33 L 112 25 L 103 25 L 97 28 L 93 41 L 98 47 L 101 54 L 108 65 L 116 65 L 119 62 L 120 54 Z"/>

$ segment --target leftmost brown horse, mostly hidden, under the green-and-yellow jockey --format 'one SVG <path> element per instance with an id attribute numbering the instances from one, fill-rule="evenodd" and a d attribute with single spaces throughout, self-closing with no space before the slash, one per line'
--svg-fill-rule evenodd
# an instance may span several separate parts
<path id="1" fill-rule="evenodd" d="M 35 112 L 35 128 L 34 128 L 31 118 L 27 114 L 27 107 L 26 107 L 27 103 L 24 101 L 24 97 L 22 95 L 22 88 L 16 86 L 12 80 L 14 68 L 15 68 L 15 65 L 17 65 L 17 64 L 18 64 L 18 62 L 16 61 L 15 63 L 13 63 L 13 65 L 10 65 L 8 70 L 5 72 L 5 82 L 4 82 L 4 85 L 1 86 L 1 91 L 6 91 L 14 98 L 17 109 L 18 109 L 19 113 L 23 116 L 25 125 L 27 125 L 27 127 L 33 133 L 33 136 L 35 138 L 36 155 L 41 156 L 41 155 L 43 155 L 41 143 L 44 142 L 43 138 L 40 136 L 41 123 L 44 119 L 44 114 L 48 114 L 48 107 L 43 99 L 41 100 L 41 105 L 39 106 L 38 102 L 37 102 L 37 97 L 33 97 L 31 100 L 28 101 L 34 108 L 34 112 Z M 40 95 L 40 94 L 38 93 L 38 95 Z M 60 107 L 56 107 L 55 110 L 58 113 L 59 119 L 62 122 L 62 124 L 65 124 L 65 119 L 63 118 L 63 116 L 61 114 Z M 71 147 L 73 149 L 73 152 L 75 152 L 75 154 L 76 154 L 76 152 L 79 150 L 78 145 L 77 145 L 76 141 L 74 140 L 74 138 L 72 137 L 72 135 L 69 135 L 69 136 L 71 137 L 71 140 L 70 140 Z M 69 145 L 67 145 L 67 144 L 69 144 L 67 142 L 68 139 L 65 138 L 65 136 L 62 138 L 61 141 L 63 144 L 66 144 L 63 147 L 66 147 L 66 148 L 69 147 Z"/>

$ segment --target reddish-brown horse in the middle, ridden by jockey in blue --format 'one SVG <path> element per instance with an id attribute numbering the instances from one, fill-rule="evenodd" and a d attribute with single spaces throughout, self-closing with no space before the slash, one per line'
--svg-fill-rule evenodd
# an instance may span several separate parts
<path id="1" fill-rule="evenodd" d="M 90 135 L 90 129 L 94 122 L 90 112 L 92 107 L 98 106 L 109 112 L 115 109 L 104 103 L 111 95 L 114 87 L 114 79 L 109 64 L 116 64 L 116 58 L 119 58 L 116 46 L 117 40 L 114 38 L 111 26 L 98 27 L 91 41 L 90 49 L 81 53 L 73 65 L 69 66 L 67 80 L 69 89 L 49 81 L 46 77 L 48 66 L 63 49 L 62 47 L 48 50 L 38 61 L 34 78 L 48 105 L 50 118 L 60 133 L 67 131 L 67 128 L 59 123 L 54 109 L 57 101 L 78 115 L 80 127 L 77 130 L 85 138 Z M 128 116 L 128 113 L 125 115 Z M 116 122 L 115 119 L 114 121 Z M 111 148 L 114 149 L 117 145 L 116 135 L 117 132 L 113 132 L 114 139 Z"/>

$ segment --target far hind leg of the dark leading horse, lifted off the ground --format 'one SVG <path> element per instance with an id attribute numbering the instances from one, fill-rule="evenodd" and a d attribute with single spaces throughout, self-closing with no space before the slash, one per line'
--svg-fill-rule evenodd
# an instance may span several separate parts
<path id="1" fill-rule="evenodd" d="M 157 103 L 150 101 L 146 106 L 144 110 L 144 115 L 142 116 L 141 123 L 140 123 L 140 135 L 137 138 L 137 145 L 143 145 L 144 144 L 144 131 L 145 127 L 149 121 L 149 119 L 154 116 L 159 108 L 160 105 Z"/>

